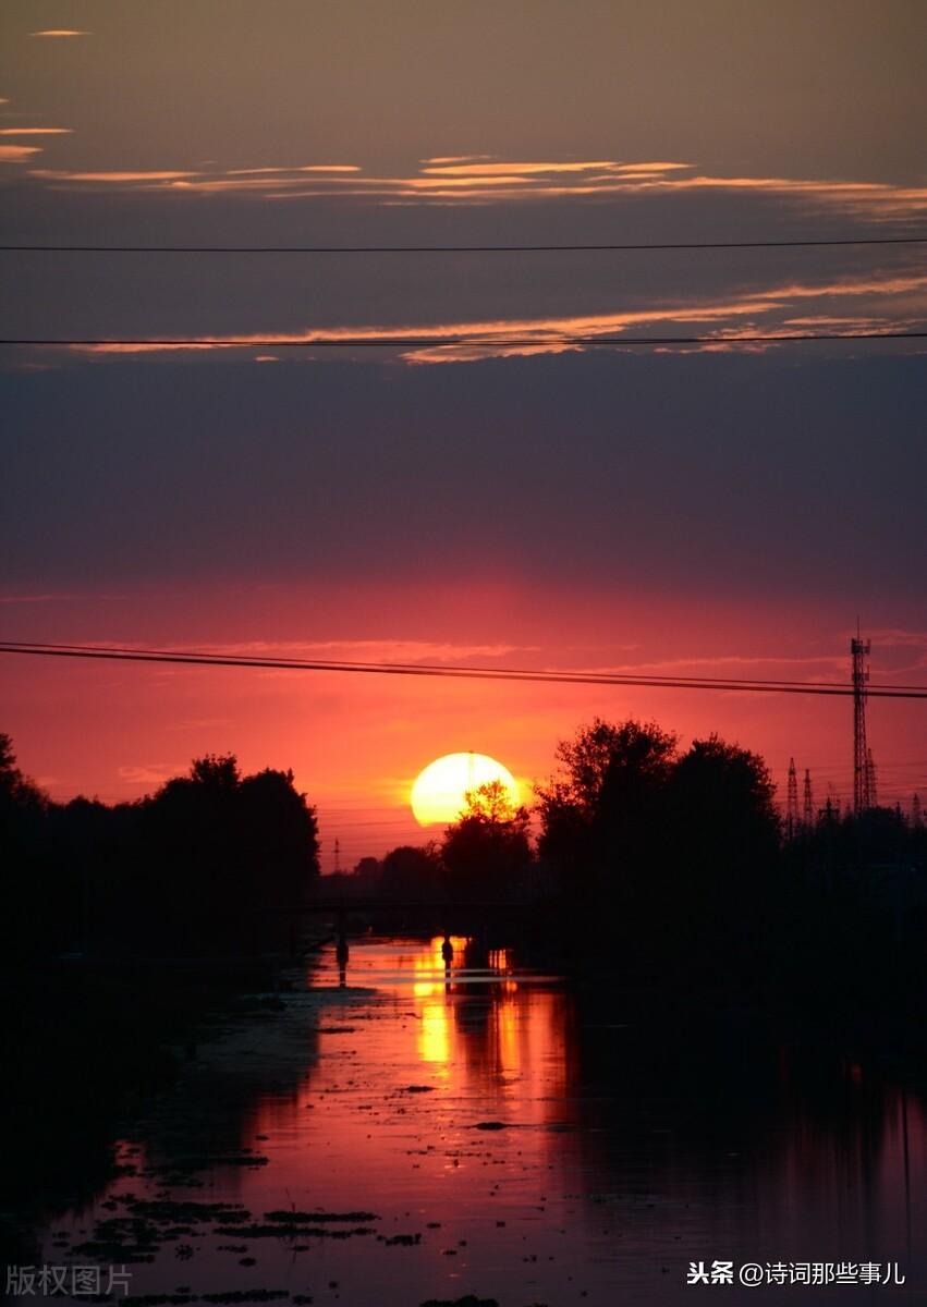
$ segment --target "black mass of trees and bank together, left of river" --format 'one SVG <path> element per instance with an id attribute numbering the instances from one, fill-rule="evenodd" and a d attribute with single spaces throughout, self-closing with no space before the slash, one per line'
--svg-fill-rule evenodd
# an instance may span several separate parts
<path id="1" fill-rule="evenodd" d="M 267 984 L 248 955 L 277 942 L 260 910 L 298 902 L 318 870 L 292 772 L 205 757 L 139 802 L 55 804 L 0 736 L 7 1260 L 37 1261 L 34 1223 L 111 1178 L 114 1123 L 170 1086 L 200 1025 L 263 1001 L 239 997 Z"/>

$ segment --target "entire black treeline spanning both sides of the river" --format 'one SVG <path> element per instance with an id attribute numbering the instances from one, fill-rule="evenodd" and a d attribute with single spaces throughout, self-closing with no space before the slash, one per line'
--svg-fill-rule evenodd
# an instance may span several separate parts
<path id="1" fill-rule="evenodd" d="M 263 910 L 318 884 L 316 816 L 292 772 L 242 776 L 234 757 L 208 755 L 137 802 L 61 805 L 0 738 L 7 959 L 247 954 L 272 942 Z M 681 750 L 652 721 L 596 719 L 557 765 L 533 814 L 482 786 L 439 842 L 365 859 L 326 878 L 326 897 L 520 901 L 552 957 L 647 984 L 917 980 L 919 814 L 828 809 L 786 840 L 761 757 L 715 735 Z"/>

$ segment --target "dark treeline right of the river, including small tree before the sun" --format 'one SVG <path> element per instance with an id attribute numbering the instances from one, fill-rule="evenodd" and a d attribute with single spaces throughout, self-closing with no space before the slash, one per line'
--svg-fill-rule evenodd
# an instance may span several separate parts
<path id="1" fill-rule="evenodd" d="M 595 720 L 557 749 L 530 814 L 499 786 L 441 842 L 365 859 L 345 893 L 520 897 L 548 957 L 650 991 L 852 1009 L 923 999 L 927 827 L 872 809 L 784 839 L 769 770 L 713 735 Z M 894 1010 L 900 1010 L 896 1008 Z"/>

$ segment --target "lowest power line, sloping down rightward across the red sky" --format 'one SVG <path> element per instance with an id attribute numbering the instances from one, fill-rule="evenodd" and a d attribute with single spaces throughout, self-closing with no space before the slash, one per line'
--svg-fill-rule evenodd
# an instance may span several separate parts
<path id="1" fill-rule="evenodd" d="M 524 681 L 558 685 L 615 685 L 650 689 L 720 690 L 757 694 L 852 695 L 851 685 L 813 681 L 766 681 L 720 677 L 660 677 L 599 672 L 543 672 L 523 668 L 439 667 L 428 663 L 346 663 L 322 659 L 241 657 L 222 654 L 184 654 L 175 650 L 127 650 L 109 646 L 0 642 L 0 654 L 42 657 L 110 659 L 127 663 L 182 663 L 194 667 L 264 668 L 295 672 L 354 672 L 379 676 L 420 676 L 476 681 Z M 869 686 L 872 698 L 927 699 L 927 686 Z"/>

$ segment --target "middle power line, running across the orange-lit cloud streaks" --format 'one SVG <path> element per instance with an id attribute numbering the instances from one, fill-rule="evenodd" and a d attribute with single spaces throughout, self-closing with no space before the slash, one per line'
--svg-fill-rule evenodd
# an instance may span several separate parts
<path id="1" fill-rule="evenodd" d="M 84 348 L 114 349 L 459 349 L 459 348 L 537 348 L 539 345 L 577 345 L 594 348 L 599 345 L 795 345 L 807 341 L 837 340 L 926 340 L 927 331 L 859 331 L 859 332 L 799 332 L 795 335 L 766 336 L 341 336 L 337 340 L 289 340 L 289 339 L 221 339 L 199 337 L 173 340 L 116 340 L 99 337 L 77 340 L 59 337 L 55 340 L 26 340 L 5 337 L 1 345 L 22 345 L 29 348 Z"/>

